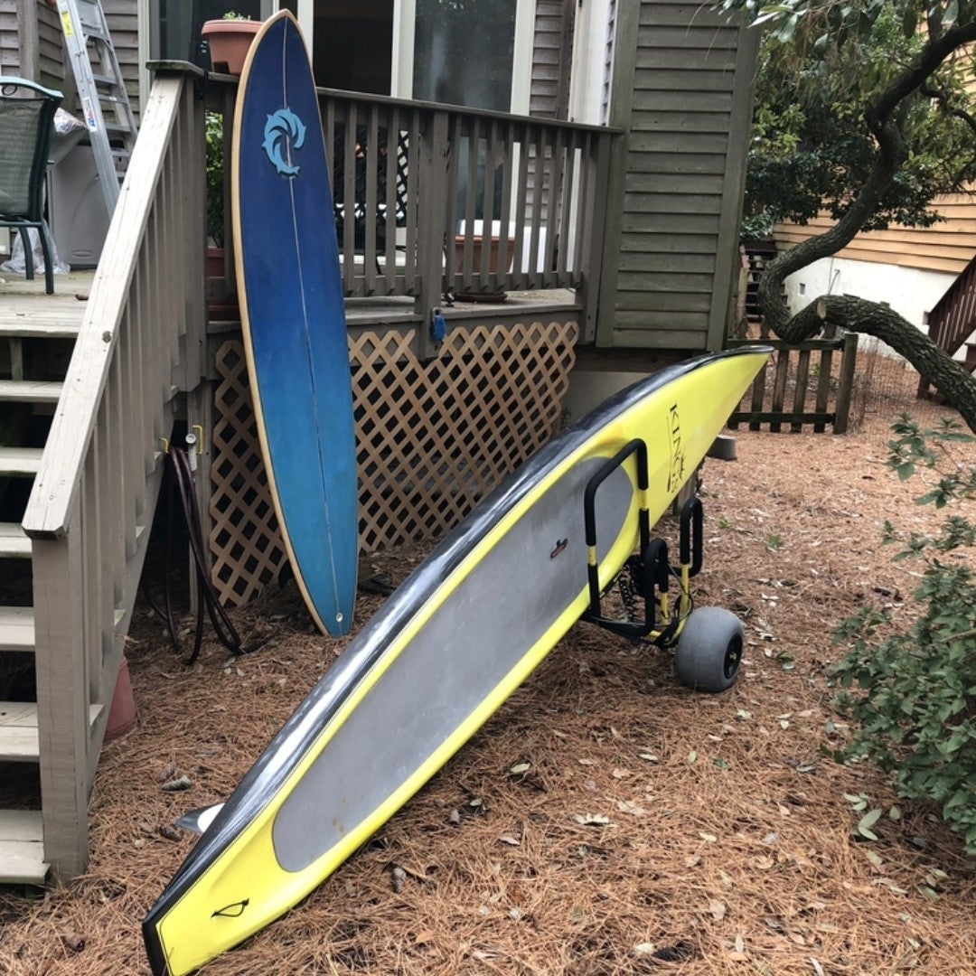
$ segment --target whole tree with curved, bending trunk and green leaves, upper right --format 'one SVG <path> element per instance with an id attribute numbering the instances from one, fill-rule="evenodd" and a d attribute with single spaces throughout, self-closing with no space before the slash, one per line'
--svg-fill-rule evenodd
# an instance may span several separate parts
<path id="1" fill-rule="evenodd" d="M 937 194 L 976 177 L 976 0 L 716 0 L 767 22 L 746 233 L 826 210 L 834 224 L 782 250 L 759 277 L 763 324 L 801 343 L 822 330 L 901 353 L 976 431 L 976 378 L 895 309 L 856 295 L 793 313 L 784 284 L 865 229 L 931 224 Z"/>

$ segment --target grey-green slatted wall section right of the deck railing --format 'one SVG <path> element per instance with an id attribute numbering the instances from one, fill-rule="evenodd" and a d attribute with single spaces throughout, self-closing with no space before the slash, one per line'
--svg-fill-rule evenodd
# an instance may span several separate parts
<path id="1" fill-rule="evenodd" d="M 597 344 L 721 346 L 732 296 L 758 32 L 698 5 L 618 12 Z M 632 93 L 632 97 L 631 97 Z"/>

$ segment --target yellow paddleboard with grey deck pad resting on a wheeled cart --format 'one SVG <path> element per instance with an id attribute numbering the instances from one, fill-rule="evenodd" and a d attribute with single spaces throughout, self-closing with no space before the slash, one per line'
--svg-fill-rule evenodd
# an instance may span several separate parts
<path id="1" fill-rule="evenodd" d="M 215 811 L 145 917 L 157 976 L 190 972 L 285 913 L 461 748 L 588 610 L 588 565 L 600 588 L 611 583 L 641 517 L 668 508 L 767 355 L 702 356 L 617 394 L 430 553 Z M 646 445 L 646 489 L 636 453 L 606 473 L 634 440 Z"/>

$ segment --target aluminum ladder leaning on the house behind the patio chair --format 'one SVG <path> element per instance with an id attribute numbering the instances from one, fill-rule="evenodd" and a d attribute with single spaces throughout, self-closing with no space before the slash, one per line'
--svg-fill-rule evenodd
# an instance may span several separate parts
<path id="1" fill-rule="evenodd" d="M 111 218 L 136 142 L 136 117 L 100 0 L 58 0 L 58 14 Z"/>

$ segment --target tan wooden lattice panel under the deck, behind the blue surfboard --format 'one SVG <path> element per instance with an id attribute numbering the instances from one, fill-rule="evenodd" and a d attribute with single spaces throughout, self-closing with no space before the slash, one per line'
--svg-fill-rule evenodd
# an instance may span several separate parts
<path id="1" fill-rule="evenodd" d="M 359 469 L 359 546 L 435 537 L 456 525 L 556 430 L 579 334 L 575 321 L 455 327 L 421 363 L 412 331 L 350 337 Z M 285 561 L 239 341 L 217 354 L 214 583 L 257 596 Z"/>

